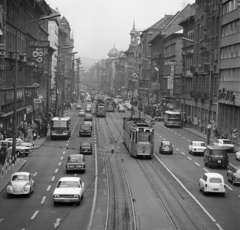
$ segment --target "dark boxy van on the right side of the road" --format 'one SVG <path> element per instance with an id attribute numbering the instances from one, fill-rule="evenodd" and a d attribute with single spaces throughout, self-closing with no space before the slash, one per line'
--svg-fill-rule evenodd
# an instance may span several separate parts
<path id="1" fill-rule="evenodd" d="M 227 148 L 217 147 L 217 146 L 207 146 L 204 152 L 204 164 L 208 167 L 223 167 L 227 168 L 229 161 L 228 161 L 228 154 Z"/>

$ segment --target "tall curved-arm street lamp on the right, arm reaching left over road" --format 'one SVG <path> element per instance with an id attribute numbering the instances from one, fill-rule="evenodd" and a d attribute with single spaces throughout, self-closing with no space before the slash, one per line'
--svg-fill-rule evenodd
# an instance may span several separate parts
<path id="1" fill-rule="evenodd" d="M 211 124 L 210 124 L 210 120 L 211 120 L 211 106 L 212 106 L 212 100 L 211 100 L 211 88 L 212 88 L 212 51 L 210 49 L 208 49 L 205 45 L 202 45 L 200 42 L 191 40 L 189 38 L 185 38 L 182 37 L 183 40 L 191 42 L 191 43 L 195 43 L 200 45 L 201 47 L 204 48 L 204 56 L 203 57 L 207 57 L 210 58 L 210 73 L 209 73 L 209 90 L 208 90 L 208 98 L 209 98 L 209 104 L 208 104 L 208 125 L 207 125 L 207 144 L 210 144 L 210 134 L 211 134 Z M 200 53 L 201 54 L 201 53 Z"/>

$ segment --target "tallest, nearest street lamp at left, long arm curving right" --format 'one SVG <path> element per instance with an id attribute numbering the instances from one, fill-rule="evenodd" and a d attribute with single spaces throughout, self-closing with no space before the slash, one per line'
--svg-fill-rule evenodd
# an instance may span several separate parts
<path id="1" fill-rule="evenodd" d="M 46 19 L 51 19 L 51 18 L 56 18 L 61 16 L 60 14 L 52 14 L 49 16 L 43 16 L 37 19 L 33 19 L 29 22 L 24 23 L 23 25 L 19 26 L 16 28 L 16 34 L 15 34 L 15 75 L 13 79 L 13 117 L 12 117 L 12 133 L 13 133 L 13 146 L 12 146 L 12 158 L 15 160 L 15 153 L 16 153 L 16 131 L 17 131 L 17 120 L 16 120 L 16 115 L 17 115 L 17 79 L 18 79 L 18 31 L 23 28 L 24 26 L 37 22 L 40 20 L 46 20 Z"/>

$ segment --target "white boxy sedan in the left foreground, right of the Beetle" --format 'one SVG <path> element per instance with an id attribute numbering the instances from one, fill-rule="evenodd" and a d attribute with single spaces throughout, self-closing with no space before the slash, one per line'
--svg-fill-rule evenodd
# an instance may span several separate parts
<path id="1" fill-rule="evenodd" d="M 53 192 L 54 204 L 57 202 L 75 202 L 79 205 L 83 198 L 84 188 L 84 183 L 80 177 L 60 178 Z"/>

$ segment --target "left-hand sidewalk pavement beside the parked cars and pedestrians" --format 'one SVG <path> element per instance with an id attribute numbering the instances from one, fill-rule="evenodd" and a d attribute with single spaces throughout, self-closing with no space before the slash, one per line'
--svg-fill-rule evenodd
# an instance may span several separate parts
<path id="1" fill-rule="evenodd" d="M 47 136 L 48 137 L 48 136 Z M 39 149 L 41 145 L 46 141 L 47 137 L 36 139 L 34 143 L 33 151 L 36 149 Z M 7 187 L 11 175 L 15 172 L 21 171 L 21 169 L 24 167 L 24 165 L 27 163 L 27 157 L 26 158 L 18 158 L 15 165 L 5 165 L 3 167 L 3 170 L 0 171 L 0 195 L 4 192 L 5 188 Z"/>

